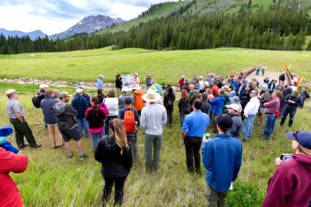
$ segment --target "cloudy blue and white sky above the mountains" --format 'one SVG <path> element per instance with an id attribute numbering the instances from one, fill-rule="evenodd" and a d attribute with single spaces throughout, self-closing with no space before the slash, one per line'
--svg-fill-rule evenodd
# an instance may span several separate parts
<path id="1" fill-rule="evenodd" d="M 0 0 L 0 28 L 51 35 L 90 15 L 134 19 L 151 4 L 164 1 L 173 0 Z"/>

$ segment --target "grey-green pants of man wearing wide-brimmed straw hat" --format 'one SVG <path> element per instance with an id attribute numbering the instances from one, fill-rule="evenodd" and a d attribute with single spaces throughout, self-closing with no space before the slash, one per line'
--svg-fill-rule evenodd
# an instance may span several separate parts
<path id="1" fill-rule="evenodd" d="M 147 170 L 158 170 L 162 135 L 144 134 L 144 159 Z M 152 159 L 153 146 L 153 159 Z"/>

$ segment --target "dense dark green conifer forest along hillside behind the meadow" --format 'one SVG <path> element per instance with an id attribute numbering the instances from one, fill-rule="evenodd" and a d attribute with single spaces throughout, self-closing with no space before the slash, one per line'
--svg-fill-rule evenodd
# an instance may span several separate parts
<path id="1" fill-rule="evenodd" d="M 182 13 L 182 8 L 180 12 Z M 178 15 L 156 19 L 128 32 L 91 34 L 52 41 L 0 35 L 3 55 L 22 52 L 63 52 L 114 46 L 121 48 L 196 50 L 219 47 L 264 50 L 301 50 L 311 34 L 307 12 L 280 10 L 241 10 L 236 13 Z M 307 47 L 311 50 L 311 41 Z"/>

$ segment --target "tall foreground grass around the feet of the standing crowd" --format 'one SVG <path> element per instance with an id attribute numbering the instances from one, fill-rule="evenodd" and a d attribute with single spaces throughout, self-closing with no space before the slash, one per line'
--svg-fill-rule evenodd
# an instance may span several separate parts
<path id="1" fill-rule="evenodd" d="M 26 120 L 37 142 L 43 145 L 37 150 L 27 147 L 21 152 L 29 157 L 26 172 L 10 173 L 21 192 L 24 205 L 101 206 L 104 181 L 100 174 L 100 164 L 93 159 L 91 139 L 82 138 L 84 152 L 89 155 L 85 161 L 77 159 L 78 153 L 73 141 L 74 157 L 71 160 L 67 159 L 64 147 L 52 149 L 41 109 L 34 108 L 30 100 L 38 90 L 33 85 L 0 83 L 0 126 L 10 124 L 6 115 L 7 97 L 4 95 L 8 88 L 15 88 L 19 92 L 18 101 L 26 110 Z M 68 90 L 73 94 L 75 89 L 59 90 Z M 95 90 L 86 92 L 91 94 Z M 292 131 L 310 130 L 310 101 L 307 102 L 305 108 L 297 110 Z M 254 123 L 257 119 L 256 117 Z M 234 189 L 229 190 L 227 195 L 228 206 L 261 206 L 267 181 L 276 170 L 274 159 L 281 153 L 293 152 L 290 139 L 285 137 L 288 128 L 279 127 L 279 121 L 276 121 L 271 141 L 261 141 L 263 126 L 254 125 L 252 138 L 243 143 L 243 163 Z M 206 206 L 206 170 L 202 166 L 200 175 L 186 172 L 185 146 L 180 130 L 178 107 L 175 103 L 173 126 L 164 128 L 160 168 L 158 172 L 151 173 L 144 170 L 144 135 L 139 130 L 139 157 L 126 180 L 123 206 Z M 207 132 L 211 133 L 211 126 Z M 211 135 L 214 137 L 214 134 Z M 9 137 L 9 141 L 15 145 L 14 135 Z M 113 206 L 113 198 L 108 206 Z"/>

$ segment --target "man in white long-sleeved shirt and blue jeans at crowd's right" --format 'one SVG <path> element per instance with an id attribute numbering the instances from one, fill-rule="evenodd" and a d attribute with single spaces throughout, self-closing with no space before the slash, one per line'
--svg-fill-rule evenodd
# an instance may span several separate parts
<path id="1" fill-rule="evenodd" d="M 261 105 L 257 98 L 258 90 L 252 90 L 250 93 L 250 101 L 244 108 L 244 121 L 243 121 L 243 141 L 247 141 L 247 138 L 252 136 L 253 122 L 258 112 L 258 108 Z"/>

